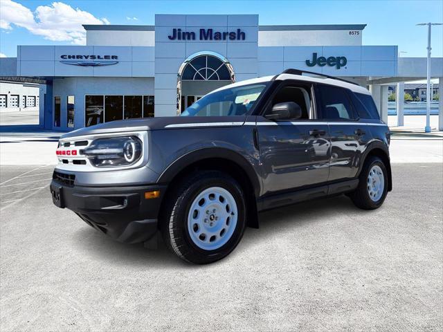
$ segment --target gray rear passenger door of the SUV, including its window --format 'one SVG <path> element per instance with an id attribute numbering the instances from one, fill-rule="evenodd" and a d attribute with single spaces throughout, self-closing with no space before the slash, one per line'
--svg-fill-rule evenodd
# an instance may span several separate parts
<path id="1" fill-rule="evenodd" d="M 318 118 L 327 121 L 331 135 L 328 181 L 354 178 L 370 132 L 364 123 L 359 122 L 347 89 L 318 84 L 317 91 Z"/>

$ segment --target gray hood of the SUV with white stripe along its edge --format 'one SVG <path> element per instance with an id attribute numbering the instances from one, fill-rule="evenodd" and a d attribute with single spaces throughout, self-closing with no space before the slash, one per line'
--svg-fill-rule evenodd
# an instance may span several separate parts
<path id="1" fill-rule="evenodd" d="M 207 127 L 241 126 L 246 116 L 165 116 L 105 122 L 65 133 L 61 138 L 71 138 L 98 133 L 119 133 L 121 131 L 147 131 L 161 129 L 192 129 Z"/>

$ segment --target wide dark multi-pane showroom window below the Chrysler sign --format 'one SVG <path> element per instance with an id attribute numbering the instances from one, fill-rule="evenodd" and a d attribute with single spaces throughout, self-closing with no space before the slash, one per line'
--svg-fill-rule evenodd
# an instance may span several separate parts
<path id="1" fill-rule="evenodd" d="M 154 95 L 85 95 L 85 127 L 154 116 Z"/>

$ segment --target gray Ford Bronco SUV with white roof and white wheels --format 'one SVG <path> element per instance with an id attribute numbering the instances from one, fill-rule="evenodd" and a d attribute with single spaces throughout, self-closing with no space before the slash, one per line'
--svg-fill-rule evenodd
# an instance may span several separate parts
<path id="1" fill-rule="evenodd" d="M 379 208 L 392 189 L 390 131 L 370 93 L 302 73 L 224 86 L 178 117 L 66 133 L 53 203 L 118 241 L 159 231 L 195 264 L 228 255 L 263 210 L 338 194 Z"/>

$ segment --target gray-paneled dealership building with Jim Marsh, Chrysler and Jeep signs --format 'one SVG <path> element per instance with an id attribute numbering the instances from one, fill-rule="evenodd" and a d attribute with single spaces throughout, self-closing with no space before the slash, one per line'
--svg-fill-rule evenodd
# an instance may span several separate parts
<path id="1" fill-rule="evenodd" d="M 156 15 L 154 26 L 85 25 L 86 46 L 18 46 L 17 58 L 0 59 L 0 76 L 42 84 L 40 126 L 60 130 L 177 116 L 219 86 L 287 68 L 367 86 L 387 120 L 388 86 L 401 91 L 426 77 L 425 57 L 363 45 L 365 24 L 258 22 L 258 15 Z M 431 76 L 442 84 L 442 57 L 432 59 Z"/>

